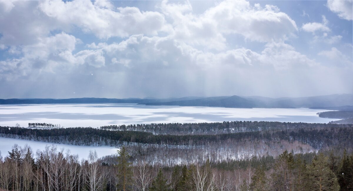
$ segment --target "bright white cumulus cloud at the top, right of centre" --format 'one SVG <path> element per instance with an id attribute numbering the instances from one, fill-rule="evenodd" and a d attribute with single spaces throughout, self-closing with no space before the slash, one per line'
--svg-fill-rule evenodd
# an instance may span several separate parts
<path id="1" fill-rule="evenodd" d="M 251 6 L 248 1 L 222 1 L 201 15 L 192 13 L 189 2 L 163 1 L 162 12 L 173 20 L 173 37 L 190 45 L 223 50 L 228 34 L 240 34 L 259 42 L 285 40 L 297 33 L 297 25 L 276 6 Z"/>

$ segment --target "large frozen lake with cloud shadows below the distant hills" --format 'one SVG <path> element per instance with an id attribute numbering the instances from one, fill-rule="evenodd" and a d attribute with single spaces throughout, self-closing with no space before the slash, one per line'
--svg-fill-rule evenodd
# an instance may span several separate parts
<path id="1" fill-rule="evenodd" d="M 19 123 L 52 123 L 64 127 L 100 127 L 148 123 L 193 123 L 223 121 L 280 121 L 327 123 L 316 109 L 216 108 L 146 106 L 137 104 L 31 104 L 0 105 L 0 126 Z"/>

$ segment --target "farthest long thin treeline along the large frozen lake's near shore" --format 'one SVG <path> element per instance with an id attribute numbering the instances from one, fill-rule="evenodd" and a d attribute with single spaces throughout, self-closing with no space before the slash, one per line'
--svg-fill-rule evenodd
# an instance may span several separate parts
<path id="1" fill-rule="evenodd" d="M 345 127 L 344 125 L 333 125 L 325 123 L 292 123 L 292 122 L 269 122 L 269 121 L 225 121 L 215 123 L 151 123 L 138 125 L 110 125 L 102 126 L 101 129 L 115 131 L 142 131 L 153 134 L 173 135 L 200 135 L 200 134 L 222 134 L 252 131 L 288 130 L 297 128 L 327 128 Z"/>

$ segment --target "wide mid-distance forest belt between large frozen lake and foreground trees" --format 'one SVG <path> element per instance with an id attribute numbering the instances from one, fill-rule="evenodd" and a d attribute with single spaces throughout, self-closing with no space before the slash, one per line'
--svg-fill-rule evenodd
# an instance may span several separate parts
<path id="1" fill-rule="evenodd" d="M 0 136 L 86 146 L 126 146 L 134 164 L 175 166 L 353 148 L 353 125 L 235 121 L 97 128 L 0 127 Z M 177 134 L 177 132 L 180 132 Z M 111 156 L 114 158 L 114 156 Z"/>

